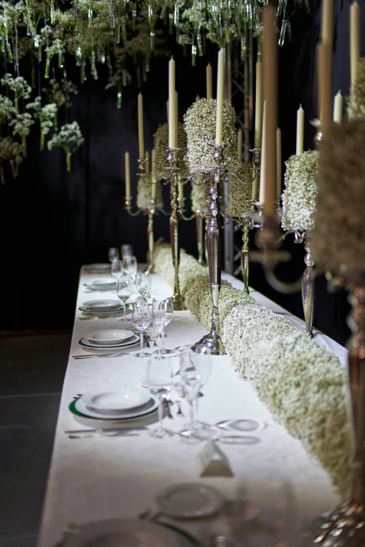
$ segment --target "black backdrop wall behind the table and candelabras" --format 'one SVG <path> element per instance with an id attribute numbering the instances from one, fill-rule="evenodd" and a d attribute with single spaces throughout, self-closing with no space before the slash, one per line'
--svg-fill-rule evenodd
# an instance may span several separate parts
<path id="1" fill-rule="evenodd" d="M 365 0 L 362 28 L 365 25 Z M 318 5 L 317 5 L 318 4 Z M 315 45 L 320 35 L 320 3 L 310 1 L 311 12 L 301 11 L 292 21 L 292 43 L 280 48 L 280 112 L 282 156 L 295 152 L 296 110 L 306 112 L 305 148 L 313 148 L 314 129 L 308 123 L 317 116 Z M 341 89 L 348 95 L 349 6 L 350 0 L 335 1 L 334 94 Z M 172 50 L 176 58 L 176 86 L 179 92 L 179 115 L 194 101 L 205 96 L 205 67 L 213 65 L 215 86 L 216 52 L 210 46 L 206 56 L 192 67 L 180 47 Z M 57 68 L 56 68 L 57 70 Z M 69 78 L 77 81 L 74 60 L 68 60 Z M 166 122 L 167 59 L 152 61 L 148 82 L 143 84 L 145 148 L 152 149 L 152 135 Z M 103 89 L 99 80 L 88 78 L 73 98 L 69 121 L 76 119 L 85 136 L 85 145 L 73 156 L 73 169 L 66 173 L 64 152 L 39 152 L 37 130 L 29 138 L 28 157 L 20 175 L 0 185 L 1 226 L 1 311 L 0 330 L 57 329 L 72 325 L 80 265 L 107 260 L 108 247 L 124 242 L 134 246 L 138 261 L 145 261 L 146 219 L 129 217 L 124 210 L 124 152 L 131 155 L 131 173 L 136 172 L 138 137 L 136 96 L 138 89 L 124 89 L 122 109 L 116 108 L 113 92 Z M 44 82 L 42 83 L 44 85 Z M 64 123 L 64 120 L 59 120 Z M 133 177 L 132 177 L 133 178 Z M 132 182 L 136 194 L 136 178 Z M 169 189 L 165 188 L 169 204 Z M 185 191 L 188 194 L 187 189 Z M 168 219 L 156 218 L 155 237 L 169 240 Z M 239 245 L 239 237 L 237 240 Z M 194 221 L 183 223 L 182 246 L 196 254 Z M 252 240 L 252 246 L 254 242 Z M 303 272 L 303 246 L 285 242 L 293 253 L 291 268 L 280 266 L 284 279 Z M 289 311 L 303 316 L 301 295 L 282 295 L 267 284 L 259 265 L 252 264 L 250 282 Z M 345 316 L 346 295 L 327 292 L 323 276 L 316 282 L 315 326 L 344 343 L 348 337 Z"/>

